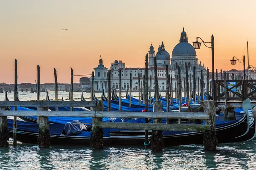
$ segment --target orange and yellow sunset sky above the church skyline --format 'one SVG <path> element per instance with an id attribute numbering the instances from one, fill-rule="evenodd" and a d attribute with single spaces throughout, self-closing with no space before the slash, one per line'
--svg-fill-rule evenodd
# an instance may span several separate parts
<path id="1" fill-rule="evenodd" d="M 246 57 L 256 67 L 255 0 L 0 0 L 0 83 L 70 82 L 91 74 L 99 64 L 110 68 L 115 59 L 126 67 L 144 67 L 151 42 L 166 51 L 179 42 L 183 27 L 189 40 L 215 38 L 215 69 L 243 69 L 230 64 Z M 68 29 L 62 31 L 61 29 Z M 211 49 L 201 45 L 198 61 L 211 71 Z M 79 76 L 74 82 L 79 82 Z"/>

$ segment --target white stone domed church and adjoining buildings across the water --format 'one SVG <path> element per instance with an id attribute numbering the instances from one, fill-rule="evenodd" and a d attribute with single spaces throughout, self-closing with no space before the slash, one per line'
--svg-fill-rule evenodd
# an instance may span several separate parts
<path id="1" fill-rule="evenodd" d="M 195 49 L 188 42 L 186 32 L 183 31 L 180 34 L 179 43 L 172 50 L 172 58 L 166 51 L 164 43 L 159 45 L 157 53 L 155 54 L 154 47 L 151 44 L 148 51 L 149 68 L 148 68 L 148 85 L 150 88 L 150 77 L 152 77 L 151 89 L 154 89 L 154 57 L 157 60 L 157 78 L 160 91 L 166 90 L 166 65 L 169 65 L 169 75 L 172 77 L 172 88 L 175 89 L 177 66 L 181 68 L 182 86 L 183 77 L 185 74 L 185 63 L 188 64 L 188 74 L 193 80 L 193 67 L 196 67 L 196 77 L 200 77 L 200 70 L 203 70 L 204 83 L 206 82 L 207 69 L 204 65 L 198 64 L 198 58 L 196 56 Z M 145 75 L 145 68 L 125 68 L 125 63 L 121 60 L 115 60 L 111 63 L 111 85 L 112 88 L 119 89 L 119 70 L 122 74 L 122 85 L 121 89 L 126 90 L 131 87 L 132 91 L 138 90 L 138 75 L 140 76 L 140 82 L 143 81 L 143 75 Z M 102 91 L 107 89 L 107 71 L 108 68 L 104 67 L 102 58 L 99 60 L 98 67 L 94 68 L 95 79 L 94 79 L 94 90 Z M 132 83 L 130 85 L 130 73 L 132 74 Z M 206 86 L 206 85 L 205 85 Z M 176 85 L 177 87 L 177 85 Z"/>

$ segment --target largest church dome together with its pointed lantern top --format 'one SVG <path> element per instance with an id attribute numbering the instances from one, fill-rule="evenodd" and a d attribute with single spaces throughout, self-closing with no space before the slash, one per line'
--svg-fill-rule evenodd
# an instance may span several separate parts
<path id="1" fill-rule="evenodd" d="M 195 49 L 191 44 L 189 44 L 184 28 L 180 34 L 180 43 L 178 43 L 172 50 L 172 56 L 181 55 L 196 56 Z"/>

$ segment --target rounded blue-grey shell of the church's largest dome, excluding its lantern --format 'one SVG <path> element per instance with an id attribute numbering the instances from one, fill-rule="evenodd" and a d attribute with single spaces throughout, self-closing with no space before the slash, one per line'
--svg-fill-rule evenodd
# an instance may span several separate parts
<path id="1" fill-rule="evenodd" d="M 172 56 L 190 55 L 196 56 L 194 47 L 188 42 L 180 42 L 172 50 Z"/>

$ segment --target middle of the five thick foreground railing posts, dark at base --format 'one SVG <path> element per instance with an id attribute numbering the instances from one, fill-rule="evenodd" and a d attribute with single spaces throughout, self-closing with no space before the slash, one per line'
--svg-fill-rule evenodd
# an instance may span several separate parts
<path id="1" fill-rule="evenodd" d="M 103 111 L 103 101 L 97 100 L 96 107 L 92 111 Z M 103 149 L 103 129 L 96 126 L 96 122 L 102 122 L 102 117 L 93 117 L 90 147 L 92 149 Z"/>

